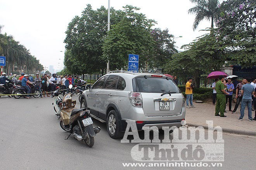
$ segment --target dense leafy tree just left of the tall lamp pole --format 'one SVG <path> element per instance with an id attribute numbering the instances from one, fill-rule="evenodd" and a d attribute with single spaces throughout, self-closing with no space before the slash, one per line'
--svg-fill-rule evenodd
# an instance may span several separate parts
<path id="1" fill-rule="evenodd" d="M 111 8 L 111 24 L 118 22 L 119 12 Z M 85 73 L 93 73 L 106 68 L 106 59 L 102 58 L 102 46 L 107 35 L 107 9 L 100 7 L 93 10 L 90 4 L 82 12 L 81 17 L 75 16 L 66 31 L 66 49 L 74 58 L 72 61 L 83 64 Z M 66 61 L 71 62 L 71 59 Z M 65 63 L 66 66 L 70 63 Z M 73 64 L 71 64 L 73 65 Z M 84 70 L 80 70 L 84 71 Z"/>

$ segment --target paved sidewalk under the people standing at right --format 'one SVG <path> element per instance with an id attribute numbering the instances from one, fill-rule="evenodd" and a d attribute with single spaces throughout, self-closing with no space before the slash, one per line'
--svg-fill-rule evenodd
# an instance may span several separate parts
<path id="1" fill-rule="evenodd" d="M 213 127 L 220 126 L 223 132 L 237 133 L 245 135 L 256 136 L 256 121 L 248 121 L 248 111 L 247 108 L 244 112 L 244 119 L 240 121 L 238 118 L 240 116 L 240 105 L 235 114 L 228 111 L 225 115 L 227 117 L 214 116 L 215 105 L 211 103 L 195 103 L 193 102 L 195 108 L 186 108 L 186 122 L 189 126 L 202 126 L 208 129 L 208 124 L 206 121 L 213 121 Z M 232 103 L 232 109 L 234 109 L 235 104 Z M 252 112 L 252 117 L 254 118 L 254 111 Z"/>

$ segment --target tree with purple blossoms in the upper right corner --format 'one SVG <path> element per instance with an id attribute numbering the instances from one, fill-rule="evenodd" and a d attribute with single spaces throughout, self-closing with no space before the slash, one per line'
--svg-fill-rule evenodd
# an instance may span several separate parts
<path id="1" fill-rule="evenodd" d="M 221 4 L 216 21 L 217 39 L 228 61 L 242 66 L 256 65 L 256 3 L 254 0 L 227 0 Z"/>

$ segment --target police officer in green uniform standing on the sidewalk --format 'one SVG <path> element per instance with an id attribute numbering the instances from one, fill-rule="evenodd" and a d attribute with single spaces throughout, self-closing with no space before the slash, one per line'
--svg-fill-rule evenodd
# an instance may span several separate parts
<path id="1" fill-rule="evenodd" d="M 219 76 L 219 81 L 215 85 L 215 90 L 217 92 L 217 104 L 215 107 L 215 116 L 227 117 L 224 115 L 225 106 L 226 106 L 226 98 L 225 94 L 229 94 L 224 90 L 224 76 Z M 219 114 L 220 111 L 220 114 Z"/>

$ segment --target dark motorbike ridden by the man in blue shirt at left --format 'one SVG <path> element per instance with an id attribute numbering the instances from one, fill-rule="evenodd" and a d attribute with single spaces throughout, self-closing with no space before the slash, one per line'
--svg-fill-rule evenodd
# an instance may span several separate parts
<path id="1" fill-rule="evenodd" d="M 35 87 L 36 83 L 35 82 L 31 82 L 32 85 L 30 86 L 31 87 L 31 94 L 33 95 L 30 95 L 30 96 L 33 96 L 35 98 L 38 98 L 40 97 L 40 93 L 42 93 L 42 90 L 40 91 L 38 88 Z M 20 94 L 26 94 L 27 93 L 27 90 L 26 88 L 22 87 L 21 85 L 14 85 L 14 91 L 13 91 L 13 94 L 14 94 L 14 98 L 15 99 L 19 99 L 22 97 L 25 97 L 25 95 L 20 95 Z"/>

